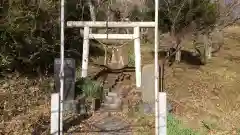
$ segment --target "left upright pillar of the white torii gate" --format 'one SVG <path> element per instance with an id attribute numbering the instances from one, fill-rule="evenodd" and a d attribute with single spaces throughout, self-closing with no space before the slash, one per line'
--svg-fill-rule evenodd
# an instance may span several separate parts
<path id="1" fill-rule="evenodd" d="M 84 27 L 83 54 L 82 54 L 82 77 L 87 77 L 89 55 L 89 27 Z"/>

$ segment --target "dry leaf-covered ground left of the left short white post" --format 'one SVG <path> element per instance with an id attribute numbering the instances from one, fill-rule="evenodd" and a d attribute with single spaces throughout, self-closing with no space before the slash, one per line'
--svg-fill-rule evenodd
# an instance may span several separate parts
<path id="1" fill-rule="evenodd" d="M 52 79 L 17 75 L 1 80 L 2 134 L 48 134 Z"/>

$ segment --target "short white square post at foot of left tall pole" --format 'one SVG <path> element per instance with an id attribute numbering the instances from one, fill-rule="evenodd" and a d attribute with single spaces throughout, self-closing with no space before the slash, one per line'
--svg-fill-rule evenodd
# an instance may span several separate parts
<path id="1" fill-rule="evenodd" d="M 51 135 L 59 135 L 60 134 L 60 127 L 59 127 L 59 120 L 60 120 L 60 99 L 59 93 L 53 93 L 51 95 Z"/>

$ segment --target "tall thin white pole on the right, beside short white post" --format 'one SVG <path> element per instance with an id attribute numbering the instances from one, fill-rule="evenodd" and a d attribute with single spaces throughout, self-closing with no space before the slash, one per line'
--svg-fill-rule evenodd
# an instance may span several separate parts
<path id="1" fill-rule="evenodd" d="M 158 0 L 155 0 L 155 134 L 159 135 Z"/>

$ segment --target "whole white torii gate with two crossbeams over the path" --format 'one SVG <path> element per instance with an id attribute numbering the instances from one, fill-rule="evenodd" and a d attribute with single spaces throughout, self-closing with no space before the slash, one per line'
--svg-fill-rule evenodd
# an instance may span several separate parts
<path id="1" fill-rule="evenodd" d="M 87 76 L 89 39 L 134 40 L 136 86 L 141 87 L 140 28 L 154 28 L 155 22 L 68 21 L 67 27 L 83 27 L 82 77 Z M 91 28 L 134 28 L 133 34 L 93 34 Z"/>

